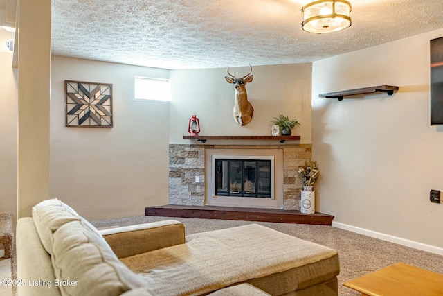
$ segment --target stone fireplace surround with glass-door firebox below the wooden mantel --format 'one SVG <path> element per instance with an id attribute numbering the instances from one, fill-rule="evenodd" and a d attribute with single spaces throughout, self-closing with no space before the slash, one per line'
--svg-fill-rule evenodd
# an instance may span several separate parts
<path id="1" fill-rule="evenodd" d="M 230 177 L 220 181 L 222 190 L 217 191 L 215 175 L 217 172 L 214 159 L 225 159 L 220 166 L 228 166 L 232 159 L 236 174 L 238 166 L 246 166 L 248 173 L 242 183 Z M 246 162 L 235 159 L 244 159 Z M 260 188 L 251 189 L 252 175 L 267 175 L 266 162 L 272 159 L 269 172 L 270 195 L 262 190 L 266 180 L 260 180 Z M 311 159 L 310 144 L 281 145 L 192 145 L 170 144 L 169 146 L 169 204 L 174 205 L 217 205 L 226 207 L 258 207 L 272 209 L 300 209 L 300 191 L 302 183 L 297 176 L 299 166 Z M 263 160 L 263 162 L 262 162 Z M 219 161 L 220 162 L 220 161 Z M 251 167 L 255 168 L 251 173 Z M 244 168 L 243 168 L 244 170 Z M 261 171 L 260 171 L 261 170 Z M 226 175 L 227 176 L 227 175 Z M 219 176 L 220 178 L 220 176 Z M 221 177 L 223 179 L 223 177 Z M 255 182 L 258 182 L 258 178 Z M 232 188 L 231 188 L 232 187 Z M 246 188 L 246 190 L 245 190 Z M 237 190 L 239 189 L 239 190 Z M 256 192 L 257 191 L 257 192 Z M 217 192 L 218 195 L 217 195 Z M 230 192 L 230 193 L 229 193 Z M 231 196 L 228 196 L 231 195 Z"/>

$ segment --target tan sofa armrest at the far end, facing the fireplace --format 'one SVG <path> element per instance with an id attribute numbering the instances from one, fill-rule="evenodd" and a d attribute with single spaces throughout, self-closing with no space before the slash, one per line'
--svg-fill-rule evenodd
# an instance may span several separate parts
<path id="1" fill-rule="evenodd" d="M 118 258 L 185 243 L 185 226 L 177 220 L 99 230 Z"/>

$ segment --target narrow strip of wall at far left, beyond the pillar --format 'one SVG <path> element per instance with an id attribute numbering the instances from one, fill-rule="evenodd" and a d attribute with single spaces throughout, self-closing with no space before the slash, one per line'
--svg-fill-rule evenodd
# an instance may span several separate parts
<path id="1" fill-rule="evenodd" d="M 17 212 L 17 87 L 10 33 L 0 28 L 0 212 Z"/>

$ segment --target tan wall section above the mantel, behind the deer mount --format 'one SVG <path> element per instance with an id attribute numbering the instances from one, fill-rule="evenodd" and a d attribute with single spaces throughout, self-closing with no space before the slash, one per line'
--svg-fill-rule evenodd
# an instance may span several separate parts
<path id="1" fill-rule="evenodd" d="M 237 77 L 248 71 L 249 67 L 230 69 Z M 204 135 L 271 135 L 271 121 L 280 113 L 300 120 L 302 126 L 293 130 L 294 135 L 301 136 L 298 143 L 311 143 L 311 64 L 253 67 L 254 78 L 246 90 L 254 114 L 251 123 L 244 126 L 233 119 L 234 87 L 226 82 L 226 75 L 225 68 L 171 71 L 170 143 L 193 143 L 182 138 L 188 134 L 193 114 L 199 118 Z"/>

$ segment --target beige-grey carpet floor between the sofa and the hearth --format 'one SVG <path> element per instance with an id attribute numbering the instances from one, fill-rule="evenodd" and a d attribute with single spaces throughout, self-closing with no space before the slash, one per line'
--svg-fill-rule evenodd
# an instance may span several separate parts
<path id="1" fill-rule="evenodd" d="M 234 220 L 138 216 L 93 221 L 93 225 L 98 228 L 107 228 L 168 219 L 175 219 L 184 223 L 186 235 L 251 223 Z M 360 295 L 360 293 L 342 286 L 344 281 L 360 277 L 368 272 L 379 270 L 397 262 L 404 262 L 433 272 L 443 273 L 443 256 L 388 243 L 343 229 L 323 225 L 289 223 L 257 224 L 337 250 L 341 268 L 340 275 L 338 275 L 338 295 L 340 296 Z"/>

